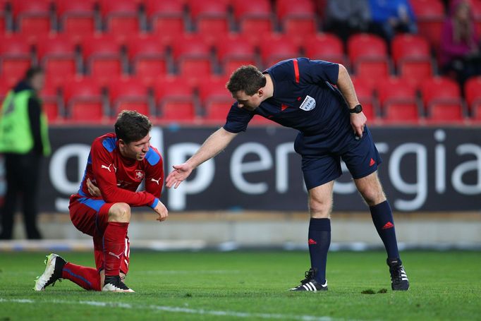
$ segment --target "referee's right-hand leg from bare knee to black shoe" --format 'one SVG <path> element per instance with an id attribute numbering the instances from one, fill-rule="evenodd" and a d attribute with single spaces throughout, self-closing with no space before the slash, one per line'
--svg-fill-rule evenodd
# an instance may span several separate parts
<path id="1" fill-rule="evenodd" d="M 374 223 L 379 237 L 384 243 L 387 253 L 387 265 L 391 274 L 391 289 L 406 291 L 409 289 L 409 280 L 406 270 L 399 258 L 394 218 L 389 202 L 386 200 L 377 172 L 363 178 L 355 179 L 361 195 L 367 205 L 370 206 L 372 222 Z"/>

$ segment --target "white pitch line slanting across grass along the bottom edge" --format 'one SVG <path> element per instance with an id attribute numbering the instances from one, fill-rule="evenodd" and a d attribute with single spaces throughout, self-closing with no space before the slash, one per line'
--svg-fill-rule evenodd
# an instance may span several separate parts
<path id="1" fill-rule="evenodd" d="M 126 308 L 137 310 L 157 310 L 171 313 L 190 313 L 194 315 L 217 315 L 226 317 L 244 317 L 244 318 L 260 318 L 260 319 L 288 319 L 288 320 L 302 320 L 302 321 L 338 321 L 343 319 L 334 319 L 332 317 L 316 317 L 315 315 L 283 315 L 283 314 L 271 314 L 271 313 L 248 313 L 248 312 L 236 312 L 236 311 L 223 311 L 223 310 L 205 310 L 205 309 L 193 309 L 193 308 L 181 308 L 176 306 L 167 305 L 133 305 L 130 303 L 118 303 L 118 302 L 102 302 L 102 301 L 63 301 L 63 300 L 51 300 L 51 301 L 35 301 L 30 298 L 0 298 L 0 303 L 29 303 L 29 304 L 75 304 L 75 305 L 90 305 L 106 308 Z"/>

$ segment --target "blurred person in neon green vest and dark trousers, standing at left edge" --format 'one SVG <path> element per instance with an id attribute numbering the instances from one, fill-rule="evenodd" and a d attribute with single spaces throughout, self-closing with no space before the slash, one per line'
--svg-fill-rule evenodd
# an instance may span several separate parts
<path id="1" fill-rule="evenodd" d="M 44 72 L 32 67 L 8 92 L 0 110 L 0 152 L 4 154 L 6 195 L 1 211 L 0 239 L 12 238 L 13 214 L 21 194 L 28 238 L 41 238 L 37 229 L 37 191 L 42 155 L 50 154 L 47 117 L 37 93 Z"/>

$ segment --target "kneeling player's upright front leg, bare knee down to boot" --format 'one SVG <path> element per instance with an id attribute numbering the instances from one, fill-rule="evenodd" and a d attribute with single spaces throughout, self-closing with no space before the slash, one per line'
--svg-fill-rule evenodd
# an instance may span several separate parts
<path id="1" fill-rule="evenodd" d="M 104 286 L 102 291 L 133 292 L 120 276 L 126 250 L 126 236 L 130 222 L 130 206 L 116 203 L 109 209 L 109 223 L 104 232 Z"/>

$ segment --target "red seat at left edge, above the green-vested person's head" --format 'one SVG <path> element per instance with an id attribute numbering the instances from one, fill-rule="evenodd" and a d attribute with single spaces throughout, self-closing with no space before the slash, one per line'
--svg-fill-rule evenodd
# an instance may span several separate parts
<path id="1" fill-rule="evenodd" d="M 23 78 L 32 64 L 32 48 L 19 35 L 0 38 L 0 72 L 6 82 L 13 86 Z"/>

